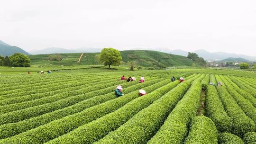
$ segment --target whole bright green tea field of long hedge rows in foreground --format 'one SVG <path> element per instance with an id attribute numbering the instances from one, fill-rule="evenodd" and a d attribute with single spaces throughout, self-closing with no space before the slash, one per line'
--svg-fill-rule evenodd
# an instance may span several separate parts
<path id="1" fill-rule="evenodd" d="M 137 81 L 120 81 L 123 74 Z M 59 72 L 5 75 L 0 83 L 0 144 L 256 144 L 255 78 Z"/>

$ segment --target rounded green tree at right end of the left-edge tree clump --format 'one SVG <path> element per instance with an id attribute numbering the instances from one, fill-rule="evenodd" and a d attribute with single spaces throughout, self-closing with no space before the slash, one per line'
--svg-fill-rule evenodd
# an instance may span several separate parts
<path id="1" fill-rule="evenodd" d="M 30 59 L 25 54 L 15 53 L 9 59 L 11 66 L 30 67 Z"/>

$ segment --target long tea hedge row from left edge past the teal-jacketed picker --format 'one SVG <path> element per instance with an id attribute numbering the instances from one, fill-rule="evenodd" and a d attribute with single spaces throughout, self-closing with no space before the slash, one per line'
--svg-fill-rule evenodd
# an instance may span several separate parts
<path id="1" fill-rule="evenodd" d="M 156 82 L 158 82 L 160 80 L 162 80 L 162 79 L 146 81 L 143 83 L 138 83 L 136 85 L 134 85 L 134 83 L 132 83 L 132 82 L 127 82 L 127 83 L 122 84 L 122 86 L 124 88 L 123 92 L 129 93 L 134 90 L 138 90 L 138 89 L 144 88 L 146 86 L 155 84 Z M 107 89 L 113 91 L 113 89 L 115 89 L 114 87 L 109 87 Z M 106 91 L 106 90 L 102 89 L 101 91 Z M 50 121 L 53 121 L 55 119 L 63 118 L 68 115 L 73 115 L 75 113 L 81 112 L 82 110 L 84 110 L 86 108 L 104 103 L 110 99 L 115 99 L 115 98 L 116 97 L 113 94 L 113 92 L 110 92 L 108 94 L 99 95 L 99 96 L 95 96 L 91 99 L 83 100 L 79 103 L 76 103 L 76 104 L 66 107 L 66 108 L 62 108 L 62 109 L 55 110 L 50 113 L 46 113 L 39 117 L 33 117 L 33 118 L 30 118 L 30 119 L 27 119 L 24 121 L 20 121 L 17 123 L 9 123 L 6 125 L 0 125 L 0 139 L 10 137 L 13 135 L 17 135 L 17 134 L 27 131 L 31 128 L 35 128 L 37 126 L 44 125 L 44 124 L 49 123 Z"/>

